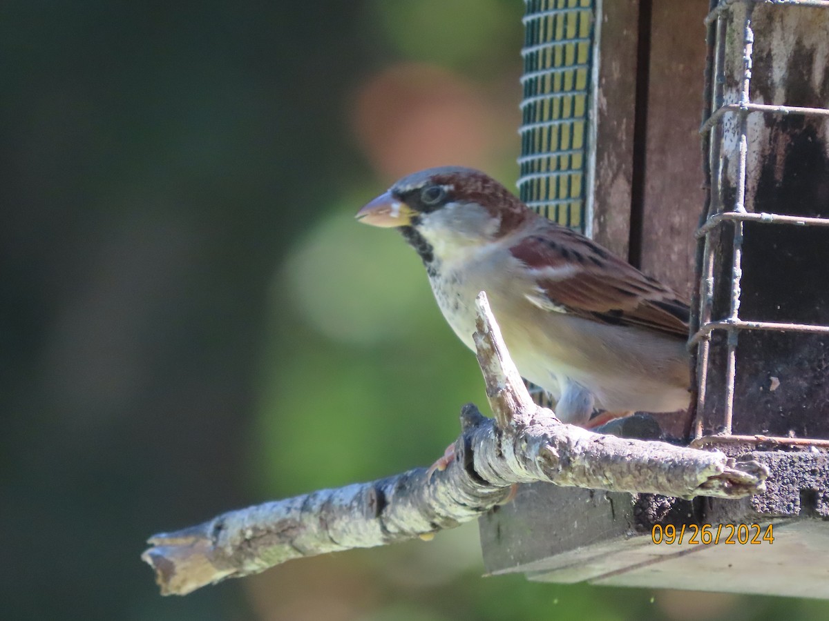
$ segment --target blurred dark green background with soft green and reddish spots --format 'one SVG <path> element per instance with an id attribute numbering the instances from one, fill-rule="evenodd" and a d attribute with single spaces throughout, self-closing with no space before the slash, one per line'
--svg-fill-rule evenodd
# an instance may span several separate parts
<path id="1" fill-rule="evenodd" d="M 485 403 L 419 259 L 353 214 L 426 166 L 514 186 L 522 13 L 3 3 L 2 619 L 829 612 L 482 577 L 475 524 L 185 598 L 139 560 L 153 532 L 429 465 Z"/>

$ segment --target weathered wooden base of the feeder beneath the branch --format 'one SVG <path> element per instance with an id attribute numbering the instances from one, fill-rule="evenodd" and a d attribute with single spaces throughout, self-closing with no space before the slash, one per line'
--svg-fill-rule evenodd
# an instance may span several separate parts
<path id="1" fill-rule="evenodd" d="M 767 491 L 742 500 L 521 486 L 480 519 L 484 565 L 542 582 L 829 599 L 829 455 L 754 444 L 774 450 L 718 447 L 769 469 Z"/>

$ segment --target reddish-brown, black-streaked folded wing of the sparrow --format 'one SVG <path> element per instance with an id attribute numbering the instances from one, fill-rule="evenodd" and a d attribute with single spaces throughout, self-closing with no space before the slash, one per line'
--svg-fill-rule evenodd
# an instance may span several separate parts
<path id="1" fill-rule="evenodd" d="M 615 325 L 688 337 L 688 306 L 675 291 L 549 220 L 510 249 L 531 267 L 551 308 Z"/>

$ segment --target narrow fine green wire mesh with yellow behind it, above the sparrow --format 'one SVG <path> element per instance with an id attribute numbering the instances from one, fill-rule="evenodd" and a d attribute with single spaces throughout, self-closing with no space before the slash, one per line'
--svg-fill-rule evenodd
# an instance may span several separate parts
<path id="1" fill-rule="evenodd" d="M 521 200 L 584 233 L 594 0 L 525 0 Z"/>

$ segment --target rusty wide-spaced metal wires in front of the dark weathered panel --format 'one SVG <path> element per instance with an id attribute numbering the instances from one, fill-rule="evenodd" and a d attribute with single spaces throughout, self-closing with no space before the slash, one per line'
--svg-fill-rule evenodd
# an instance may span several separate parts
<path id="1" fill-rule="evenodd" d="M 740 280 L 742 277 L 742 249 L 744 241 L 744 223 L 756 222 L 762 224 L 798 225 L 798 226 L 829 226 L 827 218 L 802 218 L 783 214 L 751 213 L 745 209 L 746 164 L 749 152 L 748 117 L 749 114 L 802 114 L 829 119 L 829 110 L 824 108 L 802 108 L 785 105 L 766 105 L 751 103 L 750 86 L 752 55 L 754 52 L 754 29 L 752 14 L 759 2 L 772 5 L 776 10 L 791 10 L 792 7 L 822 7 L 829 9 L 829 2 L 824 0 L 712 0 L 711 10 L 705 18 L 708 26 L 708 68 L 706 72 L 706 105 L 705 113 L 709 116 L 702 124 L 703 148 L 708 154 L 705 162 L 705 181 L 708 195 L 705 207 L 705 222 L 696 231 L 696 237 L 701 244 L 701 272 L 699 305 L 694 308 L 694 317 L 691 325 L 697 326 L 696 333 L 691 337 L 691 346 L 696 345 L 697 398 L 696 420 L 694 424 L 694 444 L 705 444 L 703 438 L 703 405 L 705 404 L 706 379 L 709 370 L 710 338 L 715 330 L 724 330 L 726 339 L 725 363 L 725 394 L 722 421 L 714 430 L 720 436 L 730 436 L 731 440 L 757 440 L 754 436 L 732 436 L 732 417 L 734 414 L 734 381 L 736 377 L 736 352 L 739 333 L 742 330 L 778 330 L 811 334 L 829 335 L 829 326 L 781 323 L 772 321 L 746 321 L 739 318 Z M 743 70 L 740 76 L 740 91 L 738 103 L 725 103 L 725 46 L 726 36 L 729 35 L 729 18 L 734 15 L 733 7 L 744 4 L 744 19 L 742 31 L 731 33 L 731 36 L 741 36 L 743 41 Z M 777 8 L 779 7 L 779 9 Z M 723 147 L 723 119 L 730 114 L 738 117 L 738 141 L 735 152 L 724 153 Z M 730 209 L 725 205 L 723 197 L 723 170 L 724 156 L 736 156 L 736 196 Z M 720 226 L 730 223 L 734 227 L 732 238 L 732 265 L 730 271 L 730 313 L 723 320 L 712 320 L 713 301 L 715 291 L 714 273 L 714 243 L 712 235 Z M 790 438 L 776 438 L 781 444 L 793 442 Z"/>

